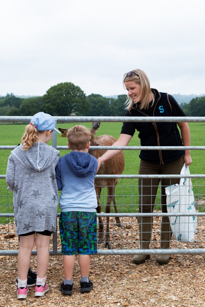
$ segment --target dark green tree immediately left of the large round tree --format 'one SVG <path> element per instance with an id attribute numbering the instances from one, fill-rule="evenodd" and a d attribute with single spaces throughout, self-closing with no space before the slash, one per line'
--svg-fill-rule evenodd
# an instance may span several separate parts
<path id="1" fill-rule="evenodd" d="M 43 111 L 43 104 L 43 96 L 26 98 L 20 105 L 19 113 L 24 116 L 33 116 L 34 114 Z"/>

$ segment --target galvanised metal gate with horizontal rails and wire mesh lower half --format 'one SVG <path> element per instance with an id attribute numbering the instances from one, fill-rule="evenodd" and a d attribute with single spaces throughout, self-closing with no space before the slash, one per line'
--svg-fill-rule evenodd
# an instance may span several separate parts
<path id="1" fill-rule="evenodd" d="M 29 122 L 31 119 L 30 116 L 0 116 L 0 122 Z M 69 116 L 69 117 L 54 117 L 57 127 L 57 121 L 59 122 L 205 122 L 204 117 L 79 117 L 79 116 Z M 57 150 L 67 150 L 67 146 L 57 146 L 57 135 L 54 132 L 52 138 L 52 145 Z M 0 146 L 0 150 L 12 150 L 16 146 Z M 108 150 L 110 146 L 90 146 L 90 149 L 93 150 Z M 112 146 L 112 150 L 205 150 L 205 146 Z M 196 207 L 204 205 L 204 194 L 200 194 L 200 188 L 204 187 L 204 178 L 205 174 L 191 174 L 189 178 L 198 179 L 198 182 L 193 185 L 194 189 L 197 190 L 195 193 Z M 103 245 L 98 244 L 98 254 L 99 255 L 137 255 L 137 254 L 205 254 L 205 226 L 203 216 L 205 212 L 196 212 L 196 213 L 162 213 L 160 210 L 154 210 L 153 213 L 139 213 L 137 211 L 137 202 L 136 199 L 139 197 L 136 190 L 138 188 L 137 179 L 138 178 L 183 178 L 183 175 L 97 175 L 96 178 L 120 178 L 121 183 L 118 182 L 116 186 L 115 197 L 121 200 L 122 204 L 118 204 L 119 213 L 114 213 L 113 207 L 111 213 L 99 213 L 97 216 L 106 218 L 107 216 L 112 217 L 112 222 L 110 221 L 109 232 L 111 234 L 110 243 L 112 244 L 112 249 L 103 249 Z M 0 175 L 0 179 L 5 179 L 5 175 Z M 200 184 L 200 180 L 203 184 Z M 126 182 L 128 183 L 126 184 Z M 1 187 L 7 188 L 6 185 Z M 105 186 L 106 187 L 106 186 Z M 128 189 L 128 193 L 125 192 L 125 189 Z M 121 191 L 120 191 L 121 190 Z M 0 195 L 1 197 L 7 198 L 7 204 L 3 205 L 7 208 L 7 213 L 0 213 L 0 218 L 8 218 L 8 223 L 2 223 L 0 226 L 0 255 L 17 255 L 18 254 L 18 238 L 15 235 L 14 227 L 14 214 L 9 213 L 9 208 L 13 206 L 10 204 L 10 199 L 12 195 L 9 195 L 9 192 L 6 189 L 6 195 Z M 103 207 L 105 206 L 107 194 L 103 191 L 101 194 L 101 199 L 103 198 Z M 158 196 L 160 197 L 160 195 Z M 124 199 L 131 199 L 125 200 Z M 160 204 L 160 201 L 159 201 Z M 2 206 L 2 205 L 0 205 Z M 127 211 L 129 206 L 129 211 Z M 121 209 L 121 210 L 120 210 Z M 59 217 L 60 214 L 57 214 Z M 196 216 L 198 219 L 198 230 L 195 234 L 195 241 L 191 243 L 181 243 L 176 240 L 171 241 L 171 249 L 160 249 L 160 218 L 162 216 Z M 152 216 L 153 217 L 153 232 L 152 240 L 150 244 L 150 249 L 142 250 L 140 249 L 139 244 L 139 231 L 138 223 L 136 217 L 139 216 Z M 115 217 L 121 217 L 121 228 L 117 227 L 114 223 Z M 10 221 L 10 218 L 12 219 Z M 103 222 L 106 225 L 106 221 Z M 13 240 L 12 240 L 13 238 Z M 5 241 L 3 241 L 5 240 Z M 10 248 L 11 247 L 11 248 Z M 53 249 L 50 250 L 51 255 L 60 254 L 60 239 L 59 231 L 53 234 Z M 36 251 L 33 251 L 33 254 L 36 254 Z"/>

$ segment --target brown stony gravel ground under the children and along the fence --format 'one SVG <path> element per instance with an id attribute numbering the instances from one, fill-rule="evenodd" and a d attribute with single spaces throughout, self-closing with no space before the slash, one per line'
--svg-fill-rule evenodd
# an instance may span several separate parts
<path id="1" fill-rule="evenodd" d="M 0 249 L 8 249 L 6 232 L 8 225 L 1 226 Z M 12 233 L 13 225 L 9 225 Z M 139 236 L 136 220 L 124 219 L 122 229 L 113 226 L 115 248 L 122 248 L 120 243 L 122 233 L 124 247 L 138 248 Z M 110 228 L 110 229 L 111 229 Z M 155 219 L 153 244 L 159 247 L 159 221 Z M 5 234 L 2 234 L 5 232 Z M 136 241 L 132 238 L 135 237 Z M 203 220 L 199 219 L 199 231 L 196 234 L 198 242 L 183 244 L 181 248 L 204 247 L 205 235 Z M 11 239 L 10 239 L 11 240 Z M 18 238 L 12 238 L 12 248 L 18 248 Z M 155 243 L 156 242 L 156 243 Z M 11 243 L 10 243 L 11 244 Z M 179 245 L 174 239 L 171 247 Z M 101 245 L 99 245 L 101 248 Z M 11 248 L 11 247 L 10 247 Z M 158 265 L 156 256 L 151 256 L 144 264 L 132 264 L 131 255 L 91 257 L 90 279 L 93 290 L 88 294 L 80 293 L 80 271 L 77 264 L 73 278 L 73 295 L 64 296 L 59 291 L 63 281 L 62 256 L 51 256 L 47 272 L 49 292 L 44 297 L 34 297 L 34 288 L 30 288 L 26 300 L 17 300 L 15 278 L 17 276 L 17 257 L 0 256 L 0 306 L 197 306 L 205 307 L 204 267 L 205 255 L 172 255 L 167 265 Z M 36 269 L 36 256 L 31 257 L 32 270 Z"/>

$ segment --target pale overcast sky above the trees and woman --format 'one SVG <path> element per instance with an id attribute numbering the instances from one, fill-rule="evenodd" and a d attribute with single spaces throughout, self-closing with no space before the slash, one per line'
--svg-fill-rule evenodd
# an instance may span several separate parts
<path id="1" fill-rule="evenodd" d="M 205 93 L 204 1 L 0 1 L 0 95 L 44 95 L 72 82 L 120 95 L 140 68 L 151 87 Z"/>

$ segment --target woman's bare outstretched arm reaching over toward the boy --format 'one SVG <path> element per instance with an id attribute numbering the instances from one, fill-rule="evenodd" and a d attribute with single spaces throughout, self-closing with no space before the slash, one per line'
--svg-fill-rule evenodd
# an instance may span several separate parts
<path id="1" fill-rule="evenodd" d="M 120 137 L 118 140 L 112 144 L 112 146 L 127 146 L 129 141 L 131 140 L 132 135 L 129 134 L 120 134 Z M 97 172 L 99 168 L 101 167 L 101 164 L 103 161 L 109 160 L 110 158 L 116 156 L 118 153 L 121 153 L 122 150 L 107 150 L 100 158 L 98 158 L 98 166 L 97 166 Z"/>

